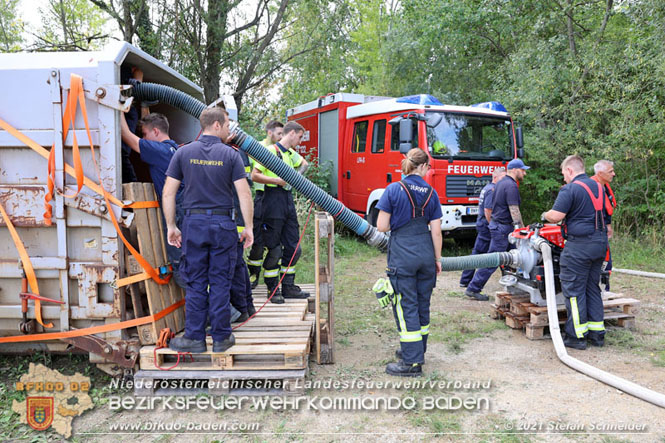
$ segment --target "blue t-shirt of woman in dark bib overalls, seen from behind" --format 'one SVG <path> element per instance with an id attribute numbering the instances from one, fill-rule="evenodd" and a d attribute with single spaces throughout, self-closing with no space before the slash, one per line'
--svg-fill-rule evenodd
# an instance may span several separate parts
<path id="1" fill-rule="evenodd" d="M 416 201 L 419 205 L 425 203 L 425 199 L 429 194 L 430 186 L 419 175 L 407 175 L 402 180 L 409 187 L 411 192 L 415 195 Z M 376 204 L 376 208 L 390 214 L 390 230 L 394 231 L 406 225 L 413 216 L 413 206 L 409 196 L 398 182 L 391 183 L 386 188 L 385 192 Z M 423 208 L 424 216 L 427 221 L 436 220 L 443 217 L 441 212 L 441 202 L 439 201 L 439 194 L 436 191 L 432 192 L 427 206 Z"/>

